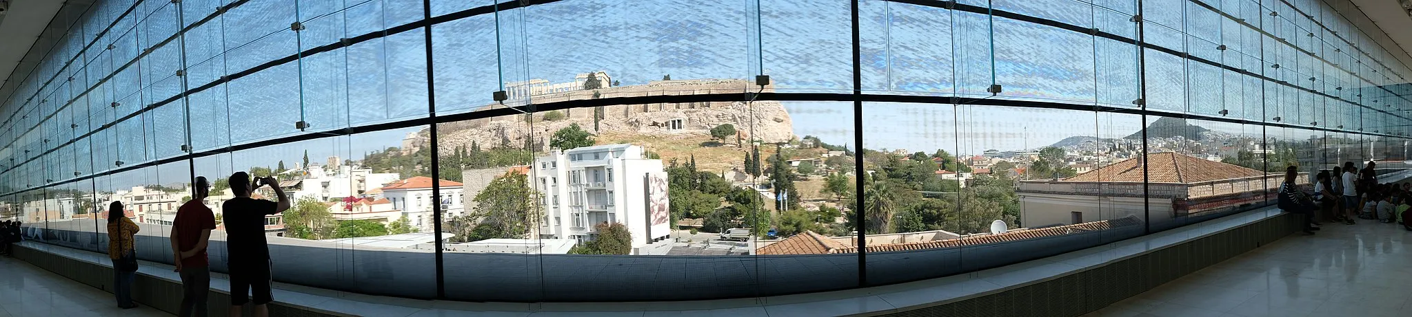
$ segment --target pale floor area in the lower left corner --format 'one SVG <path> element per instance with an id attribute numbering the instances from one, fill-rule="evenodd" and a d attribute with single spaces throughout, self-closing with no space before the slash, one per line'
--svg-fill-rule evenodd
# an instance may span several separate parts
<path id="1" fill-rule="evenodd" d="M 113 293 L 58 276 L 14 258 L 0 258 L 0 317 L 171 316 L 152 307 L 117 309 Z"/>

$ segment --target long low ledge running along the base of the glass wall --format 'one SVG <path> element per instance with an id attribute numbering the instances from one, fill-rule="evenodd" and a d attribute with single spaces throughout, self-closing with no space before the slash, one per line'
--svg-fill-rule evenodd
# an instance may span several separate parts
<path id="1" fill-rule="evenodd" d="M 1265 207 L 1163 232 L 971 273 L 898 285 L 760 299 L 631 303 L 472 303 L 370 296 L 285 283 L 275 283 L 274 297 L 278 303 L 287 306 L 329 313 L 356 311 L 357 314 L 367 316 L 483 316 L 486 313 L 494 313 L 496 316 L 528 316 L 531 313 L 534 316 L 578 316 L 583 311 L 630 313 L 633 316 L 638 316 L 638 313 L 642 313 L 642 316 L 678 313 L 747 316 L 878 314 L 905 311 L 919 306 L 946 304 L 1041 283 L 1258 223 L 1279 214 L 1282 211 L 1278 209 Z M 23 245 L 76 261 L 110 266 L 106 254 L 31 241 L 25 241 Z M 174 266 L 169 265 L 144 261 L 138 273 L 179 283 L 181 278 L 172 269 Z M 229 293 L 227 276 L 212 273 L 212 289 Z"/>

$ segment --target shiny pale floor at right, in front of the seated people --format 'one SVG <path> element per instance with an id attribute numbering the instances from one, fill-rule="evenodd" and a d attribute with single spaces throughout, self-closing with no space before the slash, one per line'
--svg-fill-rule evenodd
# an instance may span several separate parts
<path id="1" fill-rule="evenodd" d="M 1412 316 L 1408 242 L 1396 224 L 1326 224 L 1087 316 Z"/>

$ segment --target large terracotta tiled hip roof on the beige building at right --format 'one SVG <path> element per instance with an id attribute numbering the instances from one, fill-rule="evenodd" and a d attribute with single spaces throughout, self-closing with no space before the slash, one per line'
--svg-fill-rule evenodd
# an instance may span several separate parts
<path id="1" fill-rule="evenodd" d="M 1265 176 L 1264 172 L 1195 158 L 1178 152 L 1148 154 L 1148 179 L 1152 183 L 1200 183 L 1221 179 Z M 1142 161 L 1124 159 L 1089 170 L 1063 182 L 1142 182 Z"/>

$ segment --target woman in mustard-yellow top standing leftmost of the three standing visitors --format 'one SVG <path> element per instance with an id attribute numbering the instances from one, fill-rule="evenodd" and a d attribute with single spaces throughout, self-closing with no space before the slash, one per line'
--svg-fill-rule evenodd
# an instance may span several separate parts
<path id="1" fill-rule="evenodd" d="M 113 201 L 107 207 L 107 258 L 113 259 L 113 296 L 117 307 L 133 309 L 133 278 L 137 272 L 137 249 L 133 235 L 141 230 L 123 213 L 123 203 Z"/>

